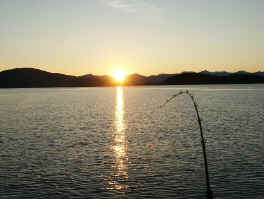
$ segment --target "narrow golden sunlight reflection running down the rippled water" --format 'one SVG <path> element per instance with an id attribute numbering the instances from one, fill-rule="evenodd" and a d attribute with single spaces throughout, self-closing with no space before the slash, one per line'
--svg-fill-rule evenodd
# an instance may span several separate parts
<path id="1" fill-rule="evenodd" d="M 116 88 L 116 109 L 115 109 L 115 132 L 112 151 L 115 157 L 112 178 L 109 181 L 111 189 L 125 191 L 127 189 L 127 140 L 124 122 L 124 96 L 123 87 Z"/>

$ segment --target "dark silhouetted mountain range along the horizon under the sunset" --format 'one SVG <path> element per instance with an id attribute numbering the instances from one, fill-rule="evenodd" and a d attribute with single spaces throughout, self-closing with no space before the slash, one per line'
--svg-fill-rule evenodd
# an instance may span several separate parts
<path id="1" fill-rule="evenodd" d="M 264 72 L 249 73 L 238 71 L 182 72 L 178 74 L 159 74 L 143 76 L 128 75 L 123 85 L 183 85 L 183 84 L 249 84 L 264 83 Z M 71 76 L 50 73 L 35 68 L 15 68 L 0 72 L 0 88 L 33 87 L 91 87 L 116 86 L 118 83 L 111 76 L 83 75 Z"/>

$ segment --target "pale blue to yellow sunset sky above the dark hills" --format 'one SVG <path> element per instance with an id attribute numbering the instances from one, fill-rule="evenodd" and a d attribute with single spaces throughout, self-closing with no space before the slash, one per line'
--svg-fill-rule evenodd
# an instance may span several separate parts
<path id="1" fill-rule="evenodd" d="M 263 0 L 0 0 L 0 71 L 264 71 Z"/>

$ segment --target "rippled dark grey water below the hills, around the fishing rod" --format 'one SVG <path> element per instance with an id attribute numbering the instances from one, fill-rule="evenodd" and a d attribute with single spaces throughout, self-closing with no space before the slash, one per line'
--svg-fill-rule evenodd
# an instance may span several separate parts
<path id="1" fill-rule="evenodd" d="M 0 198 L 264 197 L 263 85 L 0 90 Z"/>

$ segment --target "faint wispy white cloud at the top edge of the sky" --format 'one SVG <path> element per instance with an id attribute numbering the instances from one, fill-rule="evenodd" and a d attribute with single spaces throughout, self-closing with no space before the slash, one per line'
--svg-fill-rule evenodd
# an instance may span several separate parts
<path id="1" fill-rule="evenodd" d="M 104 4 L 121 9 L 125 12 L 136 13 L 140 10 L 157 10 L 153 0 L 101 0 Z"/>

